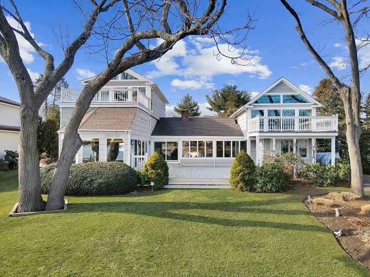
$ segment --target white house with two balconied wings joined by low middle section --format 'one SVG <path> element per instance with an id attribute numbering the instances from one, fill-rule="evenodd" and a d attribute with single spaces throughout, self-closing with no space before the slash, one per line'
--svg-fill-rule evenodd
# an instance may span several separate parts
<path id="1" fill-rule="evenodd" d="M 61 126 L 68 122 L 80 92 L 62 90 Z M 261 163 L 263 155 L 283 152 L 295 152 L 311 163 L 317 138 L 332 139 L 335 154 L 337 116 L 316 116 L 321 104 L 285 78 L 229 118 L 189 118 L 186 110 L 181 118 L 166 118 L 166 104 L 153 81 L 132 70 L 116 76 L 96 94 L 79 126 L 84 142 L 76 163 L 118 160 L 139 169 L 157 151 L 168 164 L 231 167 L 241 149 L 255 163 Z M 64 128 L 58 132 L 62 145 Z"/>

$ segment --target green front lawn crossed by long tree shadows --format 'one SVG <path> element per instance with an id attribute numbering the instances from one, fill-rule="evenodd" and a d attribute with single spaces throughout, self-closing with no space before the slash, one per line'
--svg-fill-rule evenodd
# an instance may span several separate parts
<path id="1" fill-rule="evenodd" d="M 303 205 L 323 189 L 67 197 L 8 217 L 17 185 L 0 173 L 0 276 L 370 276 Z"/>

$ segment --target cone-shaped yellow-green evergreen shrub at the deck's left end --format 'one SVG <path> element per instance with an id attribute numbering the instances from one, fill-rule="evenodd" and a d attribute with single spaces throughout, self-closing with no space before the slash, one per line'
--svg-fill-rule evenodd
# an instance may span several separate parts
<path id="1" fill-rule="evenodd" d="M 168 166 L 158 152 L 150 156 L 142 171 L 144 173 L 141 173 L 141 177 L 147 174 L 149 182 L 154 182 L 153 190 L 161 189 L 168 184 Z"/>

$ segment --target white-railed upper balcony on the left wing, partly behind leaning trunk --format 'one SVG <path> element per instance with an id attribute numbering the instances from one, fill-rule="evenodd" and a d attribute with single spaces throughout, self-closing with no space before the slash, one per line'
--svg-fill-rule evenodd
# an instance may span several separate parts
<path id="1" fill-rule="evenodd" d="M 62 89 L 61 102 L 75 103 L 81 92 L 81 89 Z M 100 90 L 91 103 L 139 103 L 149 108 L 149 98 L 139 89 Z"/>

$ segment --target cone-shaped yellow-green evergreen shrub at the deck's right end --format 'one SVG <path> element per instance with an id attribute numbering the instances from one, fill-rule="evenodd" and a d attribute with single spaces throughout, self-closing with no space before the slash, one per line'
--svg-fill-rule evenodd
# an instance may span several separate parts
<path id="1" fill-rule="evenodd" d="M 236 155 L 230 171 L 230 185 L 237 190 L 251 191 L 255 185 L 256 166 L 246 151 Z"/>

